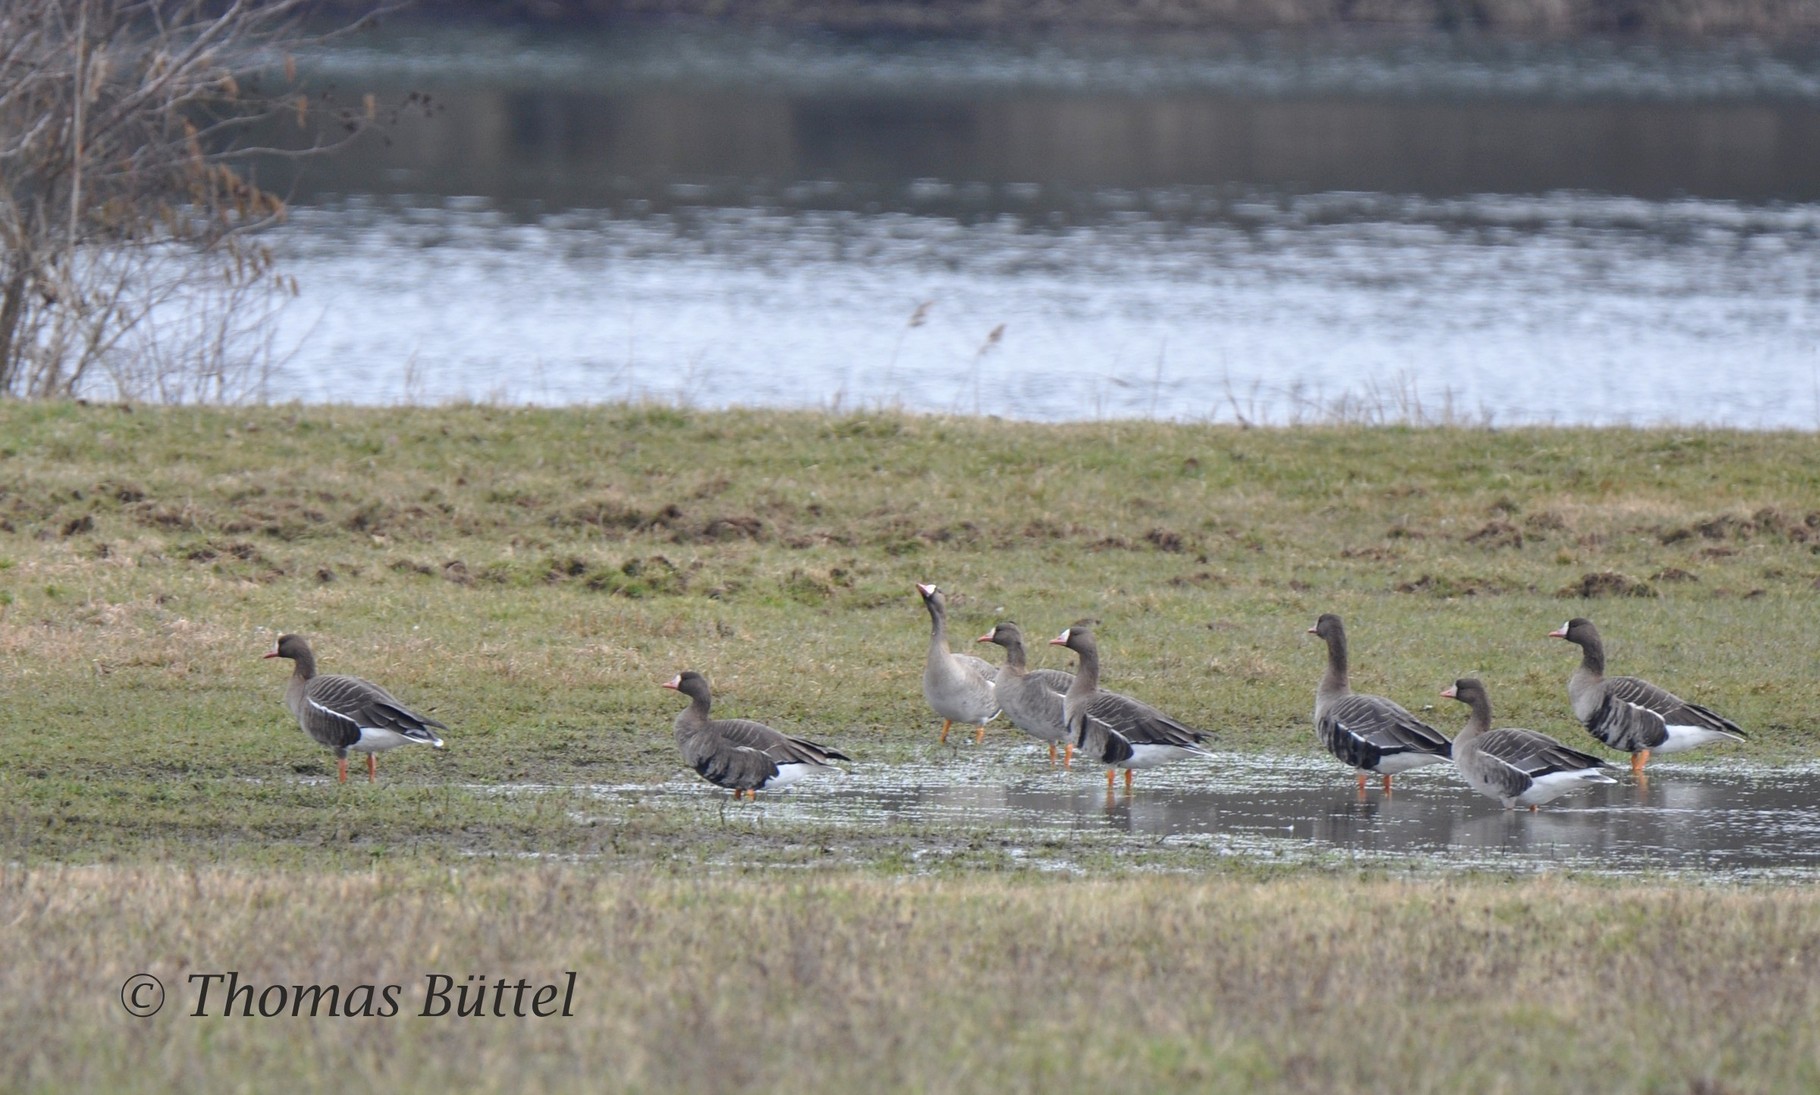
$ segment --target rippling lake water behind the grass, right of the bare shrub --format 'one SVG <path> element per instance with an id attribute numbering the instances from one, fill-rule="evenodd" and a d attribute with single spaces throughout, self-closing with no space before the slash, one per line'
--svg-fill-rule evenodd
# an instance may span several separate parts
<path id="1" fill-rule="evenodd" d="M 1820 53 L 388 31 L 268 398 L 1820 426 Z M 994 335 L 997 331 L 997 335 Z"/>

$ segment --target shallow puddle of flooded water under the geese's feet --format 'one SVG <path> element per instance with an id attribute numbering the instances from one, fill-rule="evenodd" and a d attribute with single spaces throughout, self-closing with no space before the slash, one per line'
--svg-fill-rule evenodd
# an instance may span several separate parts
<path id="1" fill-rule="evenodd" d="M 688 802 L 723 795 L 693 775 L 661 789 L 619 788 Z M 1207 848 L 1258 860 L 1340 860 L 1421 869 L 1574 869 L 1665 873 L 1713 880 L 1820 880 L 1820 768 L 1651 764 L 1645 786 L 1598 786 L 1543 806 L 1507 811 L 1447 768 L 1376 782 L 1361 797 L 1352 777 L 1314 757 L 1218 755 L 1138 775 L 1107 793 L 1101 769 L 1048 771 L 1039 751 L 952 764 L 855 766 L 808 780 L 757 806 L 755 819 L 855 829 L 894 824 L 996 831 L 1032 842 L 1081 833 L 1130 849 Z M 1052 859 L 1052 857 L 1050 857 Z M 1067 864 L 1061 862 L 1061 868 Z"/>

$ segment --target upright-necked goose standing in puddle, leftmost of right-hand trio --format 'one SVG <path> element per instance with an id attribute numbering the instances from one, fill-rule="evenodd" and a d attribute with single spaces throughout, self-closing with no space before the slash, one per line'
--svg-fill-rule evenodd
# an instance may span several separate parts
<path id="1" fill-rule="evenodd" d="M 1447 735 L 1383 697 L 1352 691 L 1347 682 L 1347 628 L 1334 613 L 1323 613 L 1309 635 L 1327 640 L 1327 673 L 1314 689 L 1314 733 L 1327 751 L 1358 771 L 1358 789 L 1365 791 L 1365 773 L 1390 777 L 1400 771 L 1436 764 L 1452 757 Z"/>

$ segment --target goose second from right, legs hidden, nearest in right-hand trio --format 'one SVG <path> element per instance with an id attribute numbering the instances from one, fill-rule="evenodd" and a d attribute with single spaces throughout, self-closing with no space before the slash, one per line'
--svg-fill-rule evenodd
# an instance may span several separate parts
<path id="1" fill-rule="evenodd" d="M 1505 809 L 1527 806 L 1534 811 L 1587 784 L 1618 782 L 1605 775 L 1609 764 L 1545 733 L 1492 729 L 1491 697 L 1478 678 L 1463 677 L 1441 695 L 1472 709 L 1467 728 L 1454 737 L 1454 766 L 1474 791 L 1503 802 Z"/>

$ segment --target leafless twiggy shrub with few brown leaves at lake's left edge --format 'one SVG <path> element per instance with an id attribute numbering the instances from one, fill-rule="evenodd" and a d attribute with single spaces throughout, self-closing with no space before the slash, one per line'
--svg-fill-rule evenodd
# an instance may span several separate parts
<path id="1" fill-rule="evenodd" d="M 264 320 L 297 287 L 257 240 L 286 209 L 255 167 L 377 120 L 302 91 L 291 53 L 324 36 L 304 4 L 0 5 L 0 395 L 257 393 Z M 246 138 L 280 115 L 318 136 Z"/>

